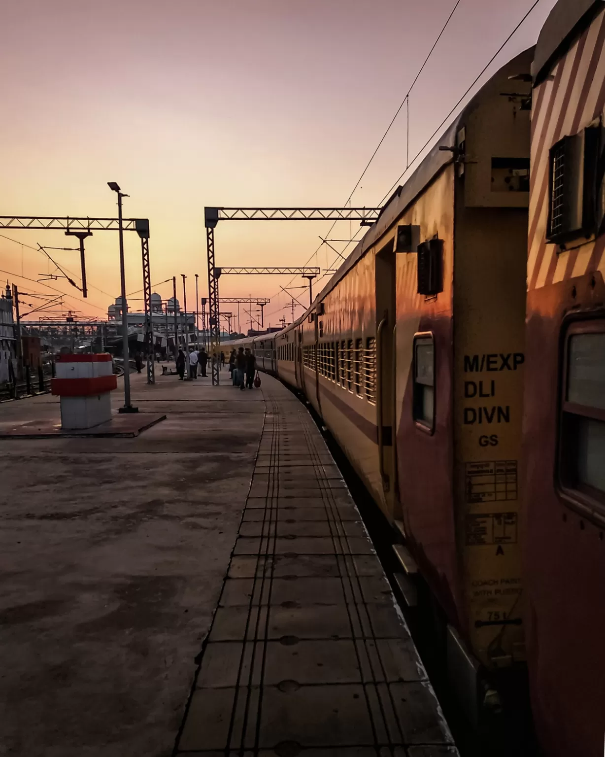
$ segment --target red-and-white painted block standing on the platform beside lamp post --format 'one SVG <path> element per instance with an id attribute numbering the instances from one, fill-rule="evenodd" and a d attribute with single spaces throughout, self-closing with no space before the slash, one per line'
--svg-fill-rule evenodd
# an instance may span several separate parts
<path id="1" fill-rule="evenodd" d="M 61 397 L 61 428 L 93 428 L 111 420 L 111 391 L 117 388 L 111 355 L 58 355 L 52 394 Z"/>

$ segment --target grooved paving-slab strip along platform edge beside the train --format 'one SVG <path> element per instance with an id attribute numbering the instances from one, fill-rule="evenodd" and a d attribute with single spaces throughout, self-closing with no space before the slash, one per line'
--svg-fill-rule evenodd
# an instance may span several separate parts
<path id="1" fill-rule="evenodd" d="M 262 391 L 250 494 L 176 754 L 457 755 L 320 432 L 275 379 Z"/>

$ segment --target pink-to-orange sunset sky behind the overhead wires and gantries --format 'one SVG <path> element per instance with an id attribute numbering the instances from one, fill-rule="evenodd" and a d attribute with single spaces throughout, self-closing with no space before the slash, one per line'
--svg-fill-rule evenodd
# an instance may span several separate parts
<path id="1" fill-rule="evenodd" d="M 541 0 L 485 78 L 535 43 L 554 2 Z M 530 5 L 461 0 L 410 96 L 410 154 Z M 182 301 L 185 273 L 192 310 L 195 273 L 207 295 L 204 205 L 344 204 L 453 7 L 454 0 L 6 0 L 0 215 L 111 217 L 107 182 L 117 181 L 130 195 L 125 217 L 150 220 L 152 282 L 178 276 Z M 379 203 L 402 173 L 406 132 L 404 109 L 354 206 Z M 311 258 L 323 269 L 335 254 L 325 245 L 313 253 L 329 226 L 219 224 L 217 264 L 299 266 Z M 330 238 L 358 230 L 339 223 Z M 3 281 L 50 292 L 36 280 L 54 266 L 21 243 L 76 245 L 61 232 L 0 233 L 17 241 L 0 237 Z M 63 313 L 101 318 L 119 294 L 117 234 L 99 232 L 86 248 L 88 300 L 65 279 L 47 284 L 69 294 Z M 80 282 L 77 253 L 51 254 Z M 290 280 L 229 276 L 220 295 L 270 297 L 265 323 L 276 326 L 282 315 L 291 319 L 280 285 L 304 283 Z M 142 287 L 134 234 L 126 234 L 126 282 L 127 292 Z M 172 294 L 171 283 L 154 289 Z M 308 303 L 302 289 L 292 294 Z M 129 298 L 132 310 L 142 309 L 136 298 L 142 294 Z"/>

